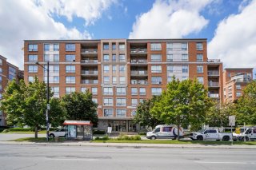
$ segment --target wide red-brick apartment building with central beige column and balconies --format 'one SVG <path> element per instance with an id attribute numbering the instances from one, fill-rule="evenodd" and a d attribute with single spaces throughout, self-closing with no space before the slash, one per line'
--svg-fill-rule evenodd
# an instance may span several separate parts
<path id="1" fill-rule="evenodd" d="M 98 129 L 133 132 L 137 105 L 160 95 L 173 76 L 198 78 L 222 101 L 222 62 L 207 58 L 206 39 L 26 40 L 25 81 L 46 81 L 35 64 L 50 61 L 54 97 L 89 89 L 98 103 Z"/>

